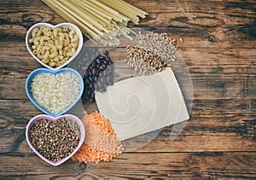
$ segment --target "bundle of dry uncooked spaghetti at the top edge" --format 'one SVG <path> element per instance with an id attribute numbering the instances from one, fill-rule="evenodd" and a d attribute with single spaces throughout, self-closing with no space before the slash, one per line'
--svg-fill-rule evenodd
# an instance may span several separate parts
<path id="1" fill-rule="evenodd" d="M 123 0 L 43 0 L 65 20 L 79 26 L 97 44 L 119 45 L 119 37 L 132 39 L 127 26 L 139 23 L 147 12 Z M 133 32 L 134 33 L 134 32 Z"/>

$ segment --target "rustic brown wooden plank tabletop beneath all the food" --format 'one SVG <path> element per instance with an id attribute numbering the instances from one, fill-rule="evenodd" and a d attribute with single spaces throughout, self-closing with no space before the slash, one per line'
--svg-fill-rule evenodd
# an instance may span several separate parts
<path id="1" fill-rule="evenodd" d="M 181 134 L 171 140 L 168 126 L 143 148 L 98 165 L 44 163 L 25 139 L 28 121 L 41 113 L 25 92 L 28 74 L 41 67 L 26 50 L 25 36 L 34 23 L 65 20 L 38 0 L 2 0 L 0 179 L 255 179 L 255 1 L 126 2 L 149 14 L 130 27 L 178 40 L 194 87 L 192 113 Z M 115 64 L 121 68 L 124 62 Z M 93 112 L 96 105 L 86 109 Z"/>

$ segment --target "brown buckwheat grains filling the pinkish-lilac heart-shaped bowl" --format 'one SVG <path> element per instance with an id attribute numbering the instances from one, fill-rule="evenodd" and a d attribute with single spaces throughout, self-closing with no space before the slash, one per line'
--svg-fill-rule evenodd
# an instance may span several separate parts
<path id="1" fill-rule="evenodd" d="M 79 125 L 71 119 L 40 119 L 32 125 L 30 138 L 33 147 L 46 159 L 58 161 L 72 154 L 78 147 Z"/>

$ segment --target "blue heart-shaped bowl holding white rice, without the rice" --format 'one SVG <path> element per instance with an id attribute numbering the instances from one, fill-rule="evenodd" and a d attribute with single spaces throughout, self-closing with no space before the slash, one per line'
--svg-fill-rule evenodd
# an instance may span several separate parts
<path id="1" fill-rule="evenodd" d="M 47 110 L 45 107 L 43 107 L 41 104 L 39 104 L 34 96 L 32 95 L 32 88 L 31 88 L 31 84 L 32 84 L 32 80 L 33 78 L 35 78 L 36 75 L 40 74 L 40 73 L 49 73 L 49 74 L 58 74 L 58 73 L 73 73 L 75 76 L 78 77 L 79 79 L 79 95 L 76 97 L 76 99 L 66 108 L 63 109 L 63 111 L 61 111 L 60 113 L 52 113 L 49 112 L 49 110 Z M 31 100 L 31 102 L 38 107 L 38 109 L 40 109 L 42 112 L 52 116 L 52 117 L 58 117 L 61 114 L 67 113 L 68 110 L 70 110 L 77 102 L 79 102 L 79 99 L 81 98 L 82 94 L 84 91 L 84 82 L 83 82 L 83 78 L 81 77 L 81 75 L 74 70 L 73 68 L 69 68 L 69 67 L 65 67 L 65 68 L 61 68 L 59 70 L 53 71 L 47 68 L 38 68 L 34 71 L 32 71 L 32 73 L 29 74 L 29 76 L 26 78 L 26 95 L 28 96 L 28 98 Z"/>

